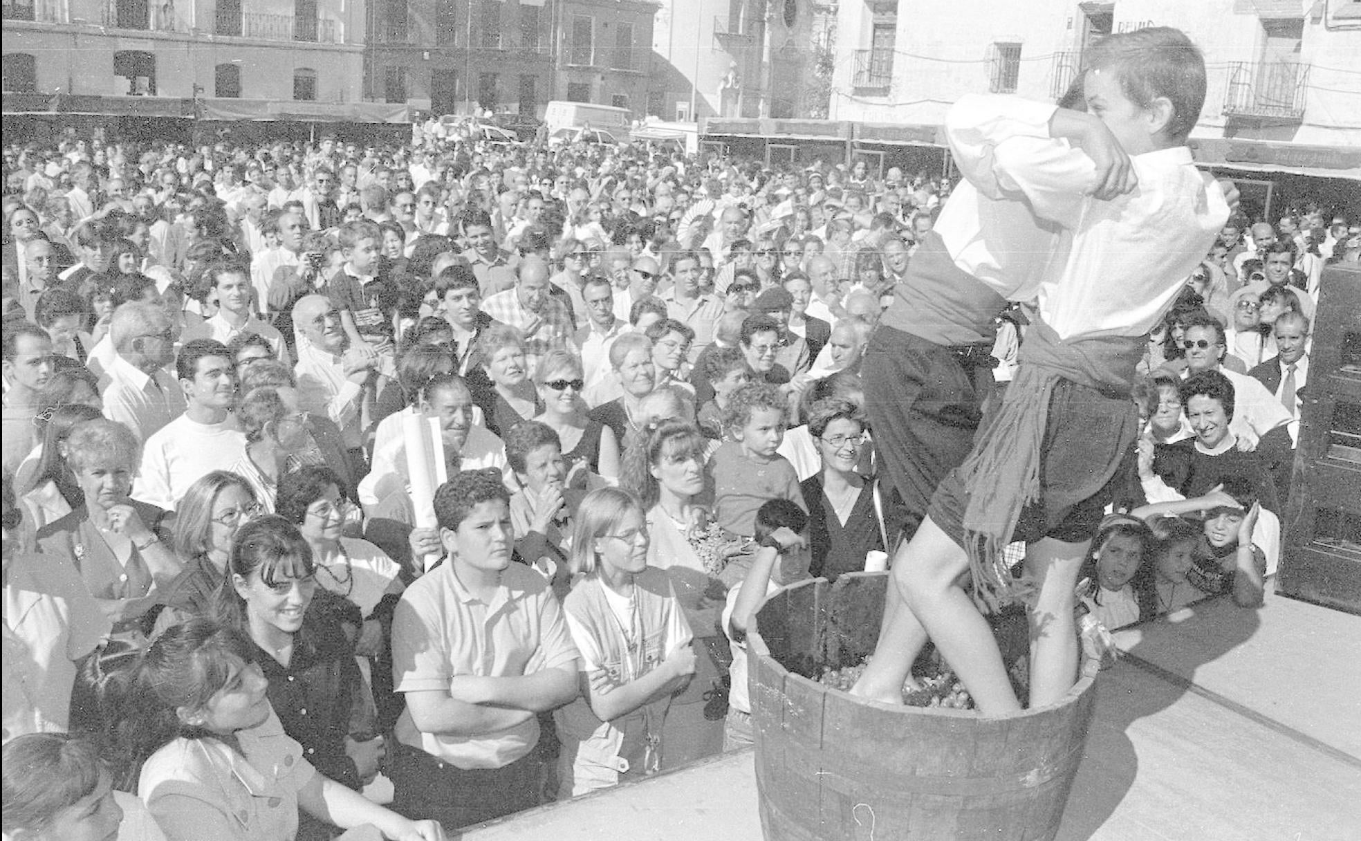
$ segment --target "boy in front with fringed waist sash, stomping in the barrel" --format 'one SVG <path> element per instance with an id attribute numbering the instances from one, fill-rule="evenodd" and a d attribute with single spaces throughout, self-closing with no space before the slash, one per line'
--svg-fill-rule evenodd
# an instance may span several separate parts
<path id="1" fill-rule="evenodd" d="M 1138 431 L 1130 386 L 1143 336 L 1229 215 L 1222 191 L 1196 171 L 1184 146 L 1204 101 L 1195 45 L 1154 27 L 1111 35 L 1089 59 L 1089 113 L 1003 97 L 954 106 L 951 121 L 970 124 L 977 139 L 961 159 L 969 180 L 1025 200 L 1059 237 L 1015 381 L 898 550 L 897 587 L 856 694 L 901 704 L 924 630 L 981 712 L 1019 709 L 974 601 L 995 608 L 1022 595 L 1030 606 L 1030 705 L 1056 701 L 1077 675 L 1074 587 Z M 1119 147 L 1097 142 L 1102 136 Z M 1051 140 L 1037 147 L 1036 137 Z M 1119 195 L 1096 197 L 1112 192 Z M 1030 593 L 1000 561 L 1011 540 L 1030 544 Z M 973 599 L 958 584 L 966 570 Z"/>

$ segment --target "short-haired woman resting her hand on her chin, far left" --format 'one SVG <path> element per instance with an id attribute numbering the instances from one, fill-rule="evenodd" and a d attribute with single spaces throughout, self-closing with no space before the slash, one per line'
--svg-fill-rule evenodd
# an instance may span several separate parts
<path id="1" fill-rule="evenodd" d="M 38 531 L 39 551 L 75 565 L 114 633 L 131 637 L 146 630 L 142 621 L 159 597 L 157 588 L 180 574 L 162 529 L 166 512 L 128 495 L 140 449 L 132 431 L 114 420 L 76 425 L 67 438 L 67 463 L 82 499 Z"/>

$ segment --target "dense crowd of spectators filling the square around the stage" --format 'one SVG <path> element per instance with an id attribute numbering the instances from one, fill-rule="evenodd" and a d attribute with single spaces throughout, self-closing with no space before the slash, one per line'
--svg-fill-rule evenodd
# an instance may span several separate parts
<path id="1" fill-rule="evenodd" d="M 7 837 L 433 840 L 750 744 L 761 599 L 917 529 L 876 448 L 972 438 L 872 429 L 862 382 L 943 180 L 421 132 L 4 154 Z M 1229 219 L 1149 333 L 1081 612 L 1260 603 L 1358 260 L 1331 208 Z M 998 303 L 980 403 L 1038 329 Z"/>

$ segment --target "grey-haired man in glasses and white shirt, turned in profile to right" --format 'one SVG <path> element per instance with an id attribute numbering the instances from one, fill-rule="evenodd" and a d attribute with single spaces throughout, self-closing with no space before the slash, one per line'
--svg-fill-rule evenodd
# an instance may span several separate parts
<path id="1" fill-rule="evenodd" d="M 174 332 L 165 312 L 129 301 L 109 324 L 114 357 L 105 370 L 103 415 L 146 441 L 185 410 L 180 385 L 165 370 L 174 361 Z"/>

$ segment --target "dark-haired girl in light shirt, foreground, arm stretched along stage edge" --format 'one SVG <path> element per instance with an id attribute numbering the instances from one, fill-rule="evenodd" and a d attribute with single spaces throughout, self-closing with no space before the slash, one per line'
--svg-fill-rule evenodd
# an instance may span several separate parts
<path id="1" fill-rule="evenodd" d="M 118 770 L 135 774 L 169 841 L 293 841 L 299 810 L 396 841 L 444 837 L 437 823 L 408 821 L 318 773 L 284 733 L 253 656 L 242 633 L 192 619 L 151 642 L 129 697 L 117 699 L 128 763 Z"/>

